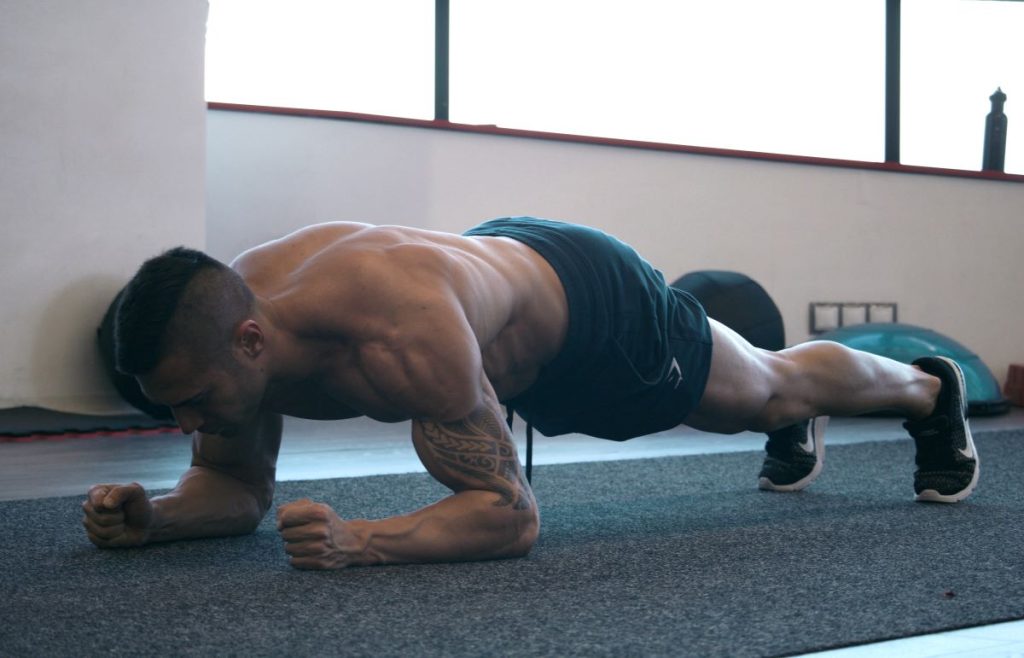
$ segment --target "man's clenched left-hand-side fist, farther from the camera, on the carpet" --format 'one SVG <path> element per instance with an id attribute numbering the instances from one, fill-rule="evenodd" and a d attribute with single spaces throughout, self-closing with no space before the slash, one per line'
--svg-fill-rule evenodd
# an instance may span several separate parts
<path id="1" fill-rule="evenodd" d="M 140 546 L 150 537 L 153 503 L 145 489 L 132 484 L 97 484 L 82 503 L 85 533 L 100 549 Z"/>

